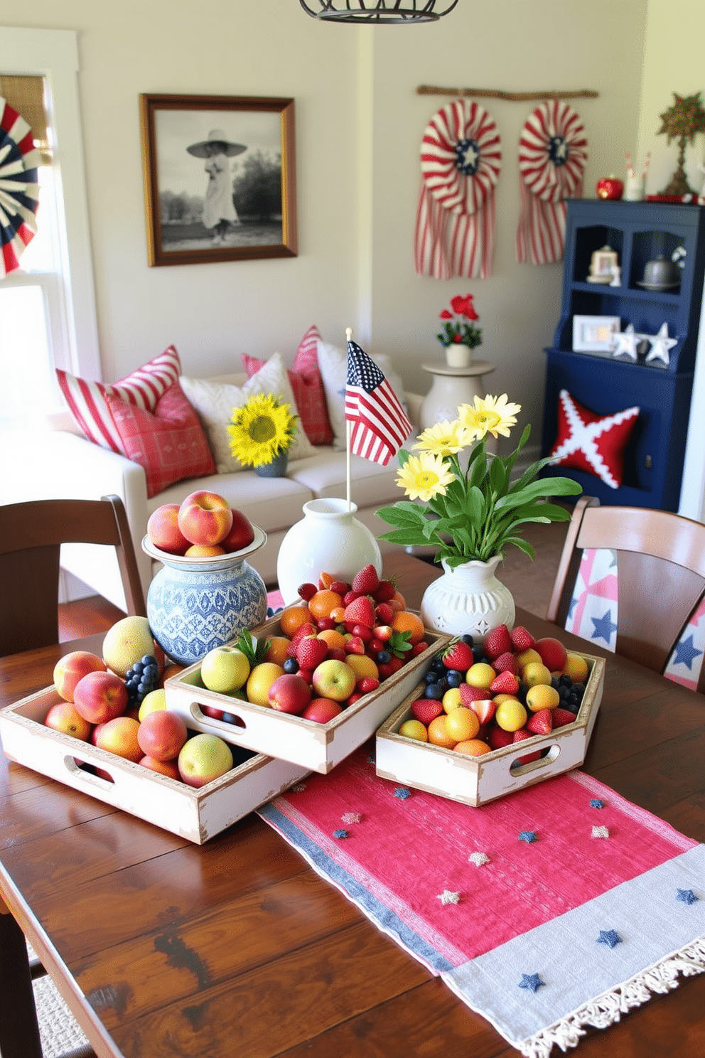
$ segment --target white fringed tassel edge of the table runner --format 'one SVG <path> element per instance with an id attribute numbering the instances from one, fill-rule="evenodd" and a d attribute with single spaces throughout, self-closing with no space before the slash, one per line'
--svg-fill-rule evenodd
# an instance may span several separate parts
<path id="1" fill-rule="evenodd" d="M 695 973 L 705 973 L 705 936 L 698 937 L 680 951 L 671 952 L 535 1036 L 520 1043 L 514 1040 L 507 1042 L 518 1047 L 525 1058 L 549 1058 L 554 1044 L 563 1052 L 577 1046 L 580 1037 L 586 1035 L 583 1025 L 608 1028 L 619 1021 L 623 1014 L 648 1003 L 653 995 L 665 995 L 678 988 L 679 974 L 690 978 Z"/>

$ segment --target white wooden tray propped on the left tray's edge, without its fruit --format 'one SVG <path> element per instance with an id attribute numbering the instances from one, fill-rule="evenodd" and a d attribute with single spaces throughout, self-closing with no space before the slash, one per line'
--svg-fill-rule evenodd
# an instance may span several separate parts
<path id="1" fill-rule="evenodd" d="M 252 630 L 255 639 L 281 635 L 279 619 L 272 618 Z M 439 650 L 450 641 L 440 632 L 427 630 L 427 649 L 386 679 L 376 691 L 364 694 L 328 724 L 280 713 L 228 694 L 208 691 L 201 679 L 201 663 L 189 665 L 164 685 L 167 707 L 181 713 L 187 727 L 219 734 L 228 742 L 279 760 L 291 761 L 311 771 L 327 773 L 371 737 L 384 719 L 428 671 Z M 231 713 L 240 727 L 207 716 L 202 707 L 212 706 Z"/>

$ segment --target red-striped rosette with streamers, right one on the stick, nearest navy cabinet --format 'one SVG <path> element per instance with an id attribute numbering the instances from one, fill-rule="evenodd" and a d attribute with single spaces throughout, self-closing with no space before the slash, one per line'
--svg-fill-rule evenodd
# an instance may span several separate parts
<path id="1" fill-rule="evenodd" d="M 518 261 L 550 264 L 562 258 L 565 199 L 582 195 L 587 148 L 582 122 L 567 103 L 542 103 L 526 118 L 519 139 Z"/>

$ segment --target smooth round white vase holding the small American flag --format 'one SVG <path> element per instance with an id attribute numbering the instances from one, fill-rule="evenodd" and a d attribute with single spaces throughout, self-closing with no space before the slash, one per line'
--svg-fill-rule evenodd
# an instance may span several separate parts
<path id="1" fill-rule="evenodd" d="M 303 518 L 289 530 L 277 555 L 277 581 L 284 604 L 299 598 L 300 584 L 318 584 L 321 572 L 342 581 L 370 563 L 382 576 L 382 555 L 373 533 L 355 517 L 356 504 L 346 499 L 311 499 Z"/>

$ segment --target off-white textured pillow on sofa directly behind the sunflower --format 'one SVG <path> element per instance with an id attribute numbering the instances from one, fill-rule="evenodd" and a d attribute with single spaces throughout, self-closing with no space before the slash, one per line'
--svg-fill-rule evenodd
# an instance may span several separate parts
<path id="1" fill-rule="evenodd" d="M 233 417 L 234 407 L 243 404 L 258 394 L 273 394 L 290 405 L 291 411 L 298 415 L 292 386 L 286 377 L 286 367 L 278 352 L 275 352 L 263 367 L 252 379 L 241 386 L 227 382 L 214 382 L 210 379 L 179 379 L 186 399 L 196 409 L 208 437 L 210 451 L 216 460 L 219 474 L 233 474 L 245 470 L 239 459 L 230 454 L 230 435 L 227 426 Z M 315 456 L 316 450 L 301 428 L 301 420 L 296 423 L 294 443 L 289 450 L 290 459 L 305 459 Z"/>

